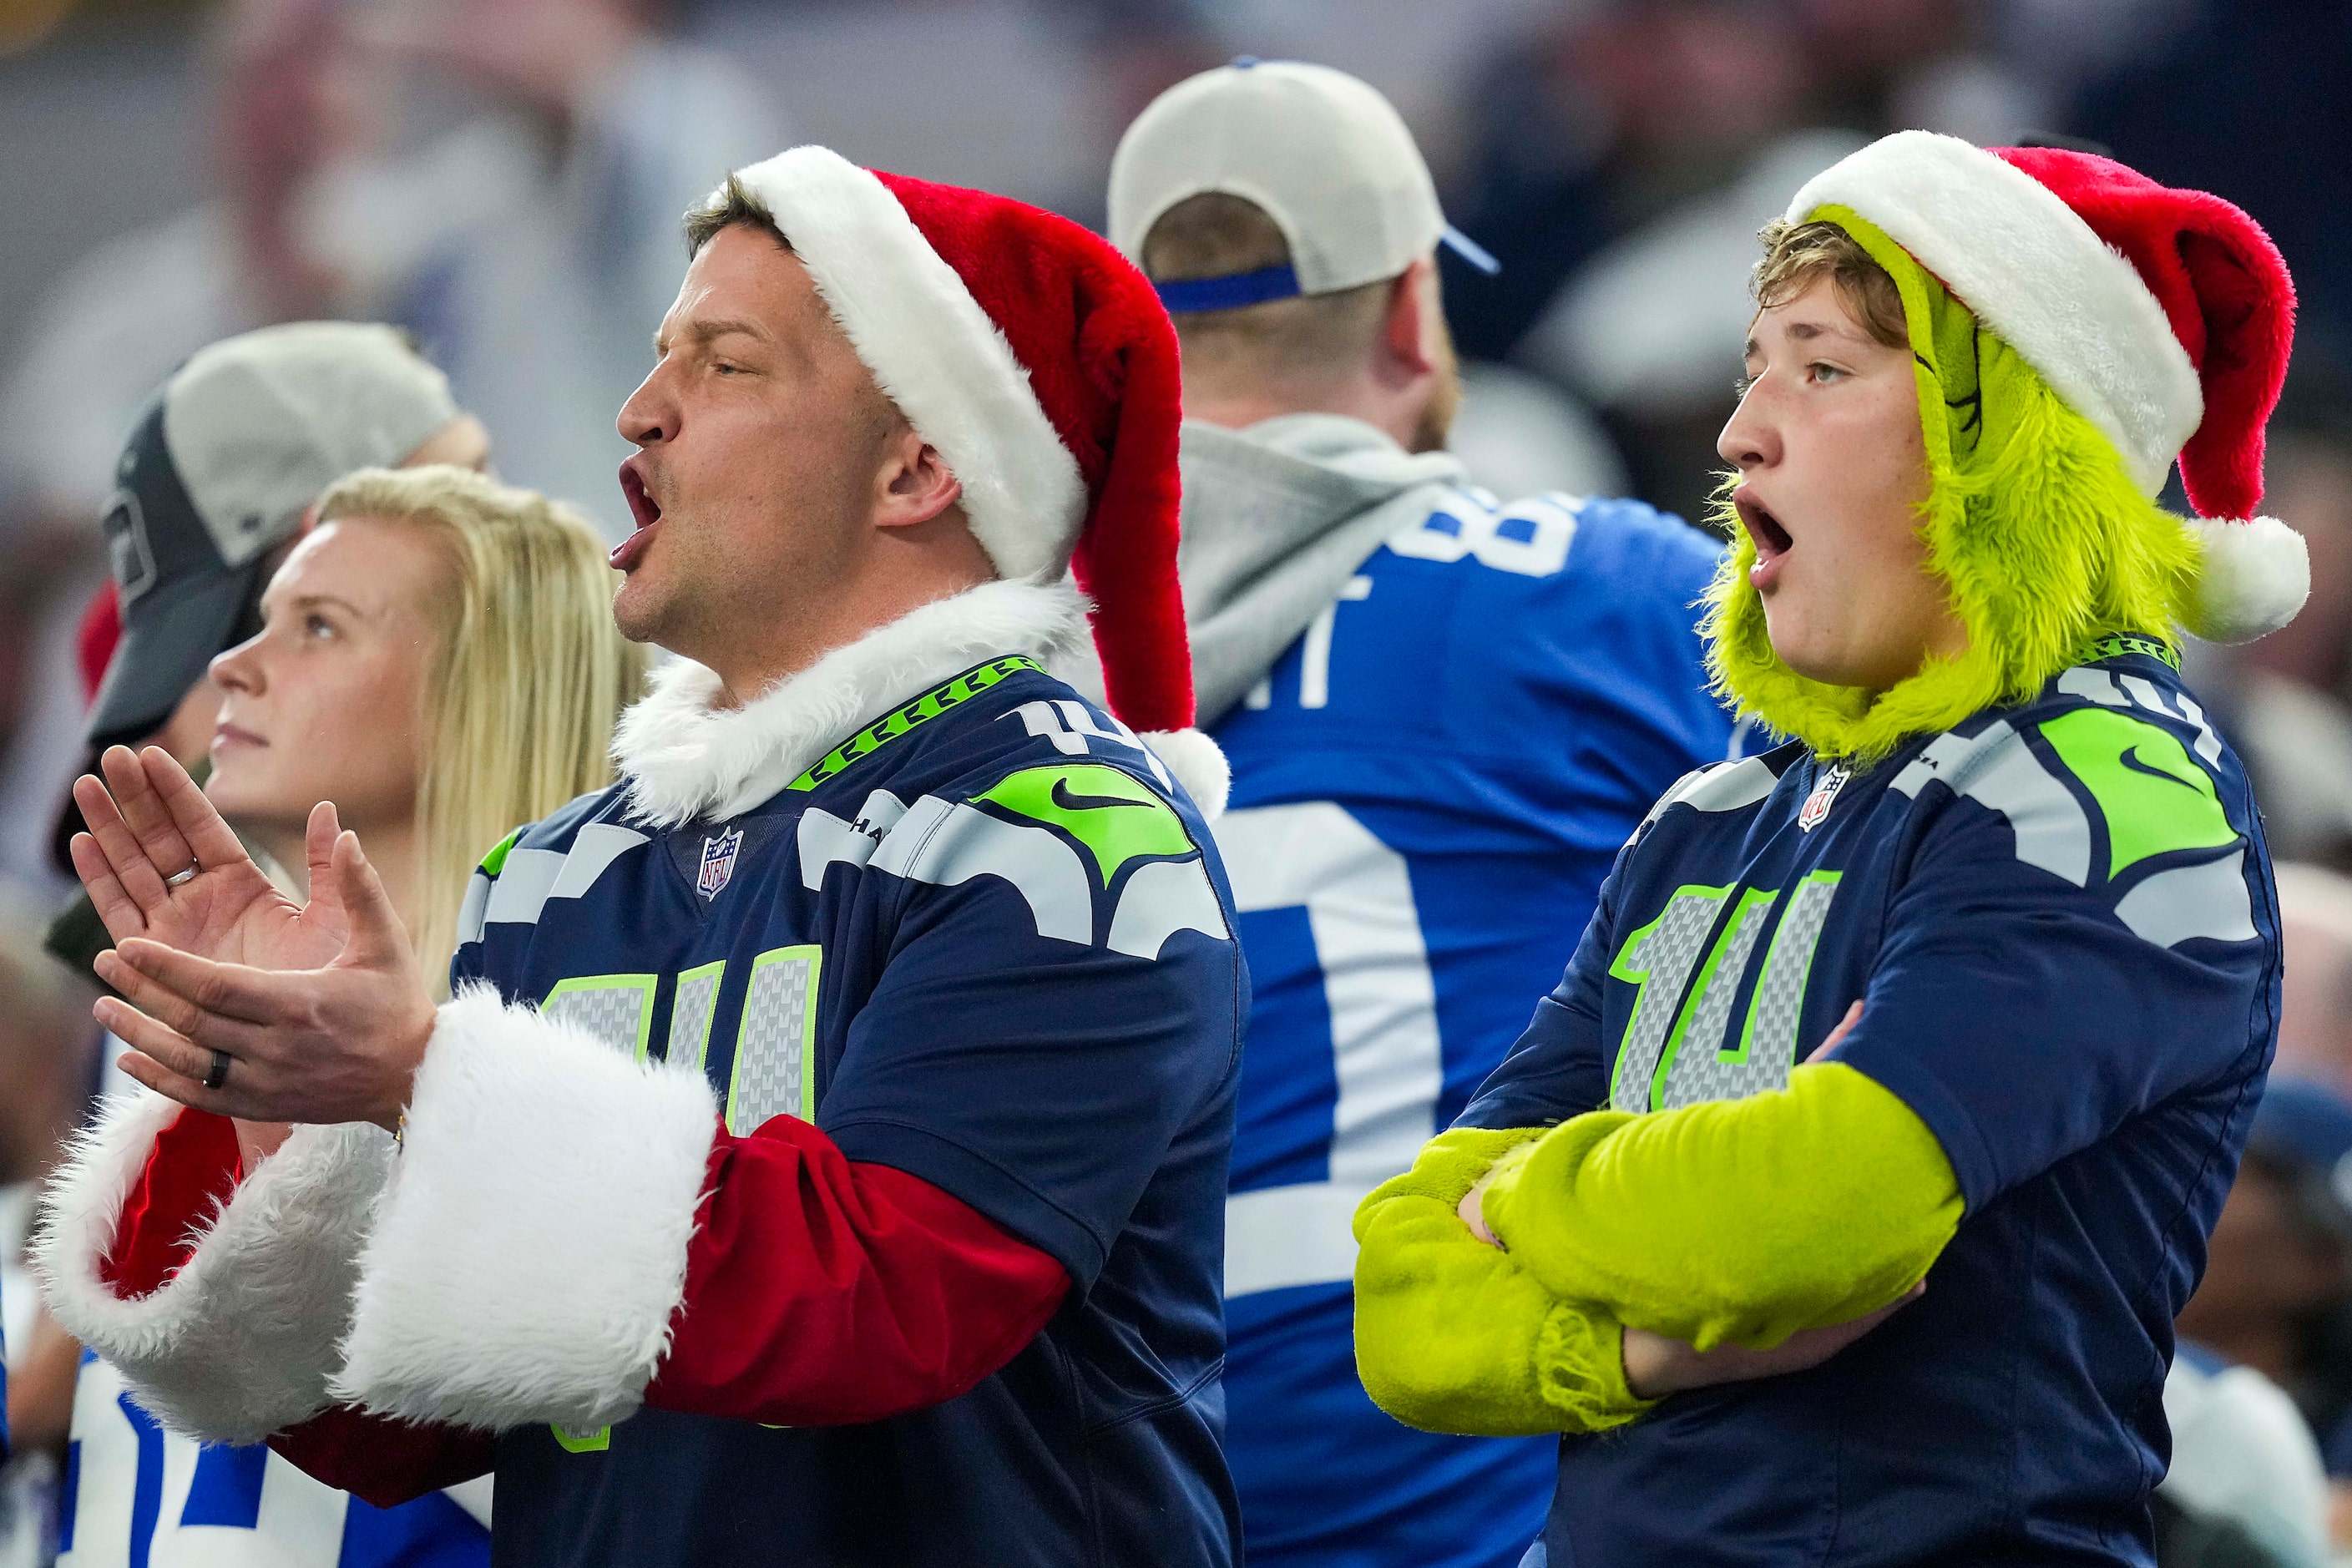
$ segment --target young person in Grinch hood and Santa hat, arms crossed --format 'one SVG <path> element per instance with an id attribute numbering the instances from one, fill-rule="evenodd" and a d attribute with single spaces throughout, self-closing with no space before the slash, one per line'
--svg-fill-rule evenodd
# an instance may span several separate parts
<path id="1" fill-rule="evenodd" d="M 2277 900 L 2178 625 L 2303 602 L 2241 212 L 1889 136 L 1764 233 L 1726 693 L 1454 1131 L 1357 1213 L 1399 1418 L 1564 1432 L 1555 1563 L 2147 1563 Z M 2178 456 L 2190 503 L 2154 505 Z M 1924 1281 L 1924 1295 L 1922 1295 Z"/>

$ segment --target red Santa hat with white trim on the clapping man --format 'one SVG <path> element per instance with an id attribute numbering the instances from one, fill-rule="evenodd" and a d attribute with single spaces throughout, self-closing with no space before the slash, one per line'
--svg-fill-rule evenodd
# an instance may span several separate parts
<path id="1" fill-rule="evenodd" d="M 1176 585 L 1176 329 L 1087 228 L 804 146 L 739 169 L 882 393 L 964 484 L 1004 578 L 1068 569 L 1094 599 L 1110 712 L 1214 811 Z"/>

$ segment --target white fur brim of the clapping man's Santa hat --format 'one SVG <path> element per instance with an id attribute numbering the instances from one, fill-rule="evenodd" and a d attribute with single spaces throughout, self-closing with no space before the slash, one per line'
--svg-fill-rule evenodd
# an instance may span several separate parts
<path id="1" fill-rule="evenodd" d="M 818 146 L 739 169 L 809 268 L 858 360 L 964 482 L 964 517 L 1000 576 L 1058 571 L 1087 484 L 1028 371 L 873 172 Z"/>

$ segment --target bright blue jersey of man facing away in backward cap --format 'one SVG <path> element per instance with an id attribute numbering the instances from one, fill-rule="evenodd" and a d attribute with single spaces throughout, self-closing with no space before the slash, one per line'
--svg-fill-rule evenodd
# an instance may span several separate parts
<path id="1" fill-rule="evenodd" d="M 1456 494 L 1216 729 L 1256 997 L 1225 1253 L 1251 1563 L 1510 1568 L 1543 1528 L 1555 1443 L 1364 1394 L 1350 1218 L 1503 1060 L 1649 804 L 1724 757 L 1717 555 L 1637 503 Z"/>

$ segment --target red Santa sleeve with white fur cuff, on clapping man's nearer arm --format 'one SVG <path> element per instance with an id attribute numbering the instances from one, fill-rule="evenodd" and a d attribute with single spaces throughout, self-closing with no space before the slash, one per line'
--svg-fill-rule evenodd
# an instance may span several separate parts
<path id="1" fill-rule="evenodd" d="M 334 1392 L 485 1429 L 877 1420 L 969 1389 L 1065 1291 L 946 1192 L 788 1117 L 731 1138 L 701 1072 L 470 990 L 416 1072 Z"/>

